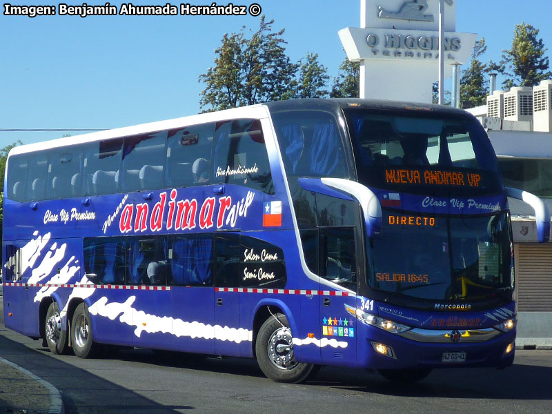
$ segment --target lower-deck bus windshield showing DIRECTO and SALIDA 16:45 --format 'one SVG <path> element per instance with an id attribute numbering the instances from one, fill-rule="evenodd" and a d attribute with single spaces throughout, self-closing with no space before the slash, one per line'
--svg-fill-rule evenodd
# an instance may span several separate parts
<path id="1" fill-rule="evenodd" d="M 367 284 L 388 293 L 388 302 L 399 295 L 475 302 L 513 290 L 508 213 L 430 217 L 385 209 L 382 234 L 368 246 Z"/>

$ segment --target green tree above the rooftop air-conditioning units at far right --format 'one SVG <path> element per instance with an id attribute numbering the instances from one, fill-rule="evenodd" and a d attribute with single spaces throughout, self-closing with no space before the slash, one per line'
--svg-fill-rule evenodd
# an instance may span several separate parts
<path id="1" fill-rule="evenodd" d="M 500 72 L 506 76 L 504 88 L 512 86 L 535 86 L 544 79 L 550 79 L 549 58 L 544 56 L 546 48 L 538 39 L 539 30 L 522 22 L 515 25 L 512 47 L 502 50 Z"/>

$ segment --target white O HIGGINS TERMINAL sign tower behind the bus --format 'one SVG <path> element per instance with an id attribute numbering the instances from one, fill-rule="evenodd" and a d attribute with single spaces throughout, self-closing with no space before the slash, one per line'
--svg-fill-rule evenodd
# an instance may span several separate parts
<path id="1" fill-rule="evenodd" d="M 446 77 L 466 63 L 477 39 L 456 32 L 456 1 L 444 1 Z M 360 0 L 360 28 L 339 30 L 347 57 L 360 62 L 361 98 L 431 103 L 439 78 L 439 0 Z"/>

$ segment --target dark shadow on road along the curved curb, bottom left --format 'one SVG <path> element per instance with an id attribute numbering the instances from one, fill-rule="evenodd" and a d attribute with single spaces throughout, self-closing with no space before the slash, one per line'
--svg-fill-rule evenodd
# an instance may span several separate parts
<path id="1" fill-rule="evenodd" d="M 0 356 L 55 386 L 61 392 L 66 414 L 120 411 L 169 414 L 195 409 L 188 405 L 157 404 L 134 391 L 53 358 L 48 353 L 48 348 L 32 351 L 0 333 Z"/>

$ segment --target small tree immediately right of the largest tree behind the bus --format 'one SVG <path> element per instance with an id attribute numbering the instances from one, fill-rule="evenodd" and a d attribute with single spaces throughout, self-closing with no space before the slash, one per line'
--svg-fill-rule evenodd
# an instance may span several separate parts
<path id="1" fill-rule="evenodd" d="M 324 98 L 328 96 L 326 85 L 328 70 L 319 63 L 318 54 L 307 52 L 304 61 L 299 61 L 299 75 L 295 83 L 295 97 Z"/>

